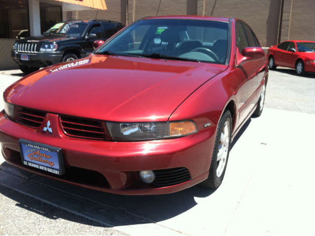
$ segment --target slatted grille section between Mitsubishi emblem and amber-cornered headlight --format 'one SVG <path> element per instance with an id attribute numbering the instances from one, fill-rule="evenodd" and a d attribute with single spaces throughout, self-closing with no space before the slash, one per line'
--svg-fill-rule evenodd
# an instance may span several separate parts
<path id="1" fill-rule="evenodd" d="M 66 135 L 78 138 L 107 139 L 104 134 L 105 122 L 60 116 L 61 127 Z"/>

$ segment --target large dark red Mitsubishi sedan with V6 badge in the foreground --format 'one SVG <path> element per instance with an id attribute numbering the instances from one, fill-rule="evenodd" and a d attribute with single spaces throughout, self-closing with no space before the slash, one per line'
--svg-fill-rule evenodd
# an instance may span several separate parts
<path id="1" fill-rule="evenodd" d="M 148 17 L 93 55 L 8 87 L 5 160 L 104 192 L 220 186 L 231 140 L 263 109 L 268 60 L 234 18 Z"/>

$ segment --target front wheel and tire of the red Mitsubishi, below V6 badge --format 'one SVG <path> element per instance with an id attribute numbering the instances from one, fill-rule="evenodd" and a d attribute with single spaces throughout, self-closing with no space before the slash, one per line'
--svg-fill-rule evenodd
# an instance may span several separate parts
<path id="1" fill-rule="evenodd" d="M 208 188 L 218 188 L 221 185 L 231 148 L 231 133 L 231 113 L 229 111 L 225 111 L 218 125 L 209 176 L 206 180 L 200 183 L 201 185 Z"/>

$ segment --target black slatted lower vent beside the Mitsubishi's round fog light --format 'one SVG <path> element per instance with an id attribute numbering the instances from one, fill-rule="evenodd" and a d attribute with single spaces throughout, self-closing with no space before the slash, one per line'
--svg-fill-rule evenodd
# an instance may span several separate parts
<path id="1" fill-rule="evenodd" d="M 189 170 L 184 167 L 158 169 L 154 170 L 154 173 L 156 174 L 156 179 L 154 180 L 153 184 L 164 187 L 181 184 L 191 179 Z"/>

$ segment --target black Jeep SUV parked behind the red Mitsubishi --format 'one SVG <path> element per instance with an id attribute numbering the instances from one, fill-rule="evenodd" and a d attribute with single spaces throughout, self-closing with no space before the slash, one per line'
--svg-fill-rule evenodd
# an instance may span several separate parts
<path id="1" fill-rule="evenodd" d="M 22 72 L 90 55 L 96 40 L 106 40 L 125 26 L 108 20 L 65 20 L 39 36 L 15 41 L 11 57 Z"/>

